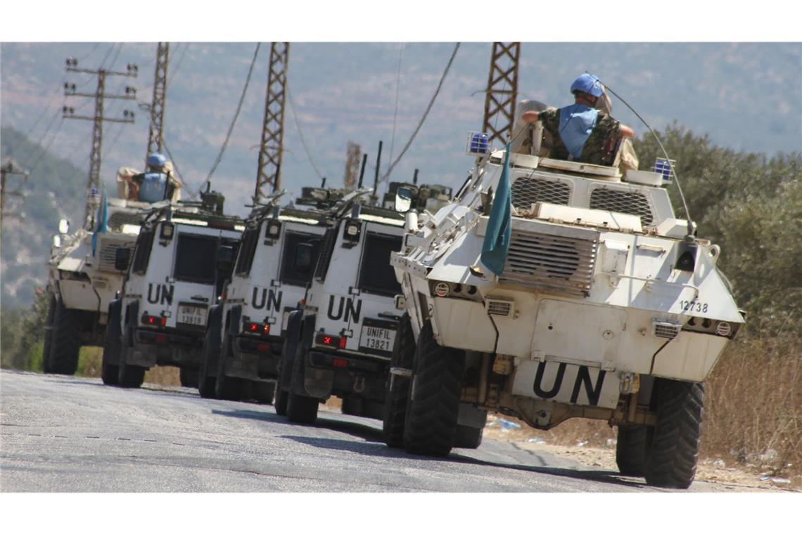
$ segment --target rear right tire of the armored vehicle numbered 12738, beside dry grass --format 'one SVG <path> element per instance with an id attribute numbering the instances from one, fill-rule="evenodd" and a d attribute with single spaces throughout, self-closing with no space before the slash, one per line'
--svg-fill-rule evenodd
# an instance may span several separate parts
<path id="1" fill-rule="evenodd" d="M 699 457 L 704 384 L 655 379 L 657 424 L 646 449 L 646 484 L 687 488 L 694 480 Z"/>

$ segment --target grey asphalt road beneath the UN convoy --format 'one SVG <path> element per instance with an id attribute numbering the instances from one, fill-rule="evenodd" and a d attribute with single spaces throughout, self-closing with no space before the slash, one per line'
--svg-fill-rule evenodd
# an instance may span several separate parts
<path id="1" fill-rule="evenodd" d="M 376 420 L 322 408 L 314 426 L 290 424 L 184 387 L 3 370 L 0 401 L 2 492 L 665 491 L 489 439 L 411 456 L 383 444 Z"/>

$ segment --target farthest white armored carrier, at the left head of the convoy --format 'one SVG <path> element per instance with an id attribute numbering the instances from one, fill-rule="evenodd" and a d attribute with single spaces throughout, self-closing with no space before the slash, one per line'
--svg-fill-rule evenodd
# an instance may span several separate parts
<path id="1" fill-rule="evenodd" d="M 46 373 L 74 375 L 80 347 L 103 345 L 108 304 L 123 287 L 124 272 L 115 268 L 116 251 L 134 247 L 141 212 L 149 206 L 111 198 L 103 203 L 97 191 L 91 191 L 84 226 L 70 233 L 67 220 L 59 223 L 47 263 Z"/>

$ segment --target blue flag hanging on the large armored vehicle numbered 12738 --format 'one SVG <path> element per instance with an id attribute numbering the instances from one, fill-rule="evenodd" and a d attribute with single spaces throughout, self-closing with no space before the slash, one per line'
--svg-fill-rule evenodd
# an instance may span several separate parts
<path id="1" fill-rule="evenodd" d="M 509 187 L 509 149 L 504 153 L 504 169 L 501 171 L 496 195 L 490 208 L 488 229 L 482 243 L 482 263 L 497 276 L 504 272 L 509 241 L 512 237 L 512 203 Z"/>

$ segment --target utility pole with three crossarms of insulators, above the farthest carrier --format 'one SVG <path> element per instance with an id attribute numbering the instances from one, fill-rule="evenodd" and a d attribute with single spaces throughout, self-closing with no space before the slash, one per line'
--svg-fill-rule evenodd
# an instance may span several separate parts
<path id="1" fill-rule="evenodd" d="M 79 93 L 76 90 L 75 83 L 64 83 L 64 95 L 68 97 L 87 97 L 95 98 L 95 114 L 91 117 L 81 116 L 75 114 L 75 108 L 71 106 L 63 106 L 63 118 L 79 118 L 82 120 L 89 120 L 93 122 L 92 128 L 92 147 L 89 153 L 89 179 L 87 180 L 87 194 L 93 189 L 99 191 L 100 189 L 100 162 L 101 162 L 101 147 L 103 146 L 103 122 L 134 122 L 134 112 L 129 110 L 123 111 L 123 118 L 107 118 L 103 116 L 103 101 L 106 98 L 118 98 L 122 100 L 136 100 L 136 88 L 126 86 L 125 94 L 106 94 L 106 77 L 107 76 L 127 76 L 129 78 L 136 78 L 139 67 L 136 65 L 128 64 L 126 72 L 116 72 L 114 70 L 89 70 L 79 69 L 78 60 L 75 58 L 67 58 L 67 72 L 76 72 L 83 74 L 95 74 L 98 77 L 98 86 L 95 94 Z M 89 221 L 93 209 L 91 203 L 87 202 L 86 211 L 83 214 L 83 220 Z"/>

